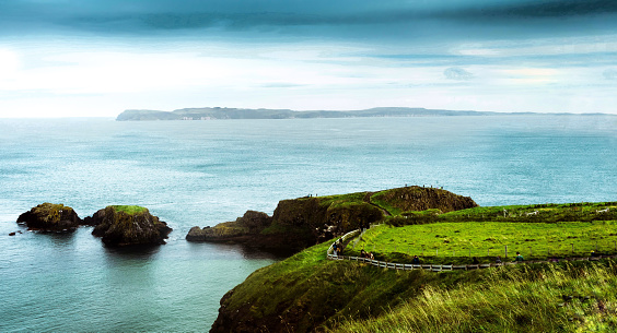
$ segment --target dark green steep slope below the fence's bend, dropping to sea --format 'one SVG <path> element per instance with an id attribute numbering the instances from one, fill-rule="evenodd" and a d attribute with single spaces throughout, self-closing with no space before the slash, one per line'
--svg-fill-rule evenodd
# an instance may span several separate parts
<path id="1" fill-rule="evenodd" d="M 260 269 L 235 287 L 224 301 L 225 309 L 230 313 L 245 312 L 244 319 L 251 320 L 238 328 L 264 325 L 271 332 L 307 332 L 347 317 L 383 313 L 385 307 L 418 295 L 423 285 L 453 285 L 475 275 L 403 272 L 326 261 L 328 247 L 329 242 L 318 245 Z"/>

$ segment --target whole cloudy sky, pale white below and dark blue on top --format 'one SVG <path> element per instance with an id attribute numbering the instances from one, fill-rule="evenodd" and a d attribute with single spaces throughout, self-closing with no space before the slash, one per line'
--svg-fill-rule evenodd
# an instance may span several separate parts
<path id="1" fill-rule="evenodd" d="M 617 114 L 614 0 L 0 0 L 0 118 Z"/>

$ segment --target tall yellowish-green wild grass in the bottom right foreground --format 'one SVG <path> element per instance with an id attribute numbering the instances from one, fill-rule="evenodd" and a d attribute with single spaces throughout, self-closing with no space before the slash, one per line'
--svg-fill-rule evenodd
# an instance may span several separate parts
<path id="1" fill-rule="evenodd" d="M 616 273 L 614 261 L 486 270 L 454 287 L 427 285 L 383 316 L 347 318 L 329 332 L 616 332 Z"/>

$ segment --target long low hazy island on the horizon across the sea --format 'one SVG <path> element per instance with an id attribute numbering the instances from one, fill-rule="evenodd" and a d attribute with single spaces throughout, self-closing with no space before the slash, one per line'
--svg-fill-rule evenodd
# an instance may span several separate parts
<path id="1" fill-rule="evenodd" d="M 116 120 L 219 120 L 219 119 L 305 119 L 305 118 L 361 118 L 361 117 L 435 117 L 435 116 L 490 116 L 498 112 L 454 111 L 408 107 L 377 107 L 364 110 L 246 109 L 226 107 L 184 108 L 174 111 L 136 110 L 121 112 Z"/>

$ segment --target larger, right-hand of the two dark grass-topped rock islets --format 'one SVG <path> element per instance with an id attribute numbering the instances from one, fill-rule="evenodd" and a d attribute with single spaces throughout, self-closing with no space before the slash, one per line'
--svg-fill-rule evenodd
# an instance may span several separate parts
<path id="1" fill-rule="evenodd" d="M 140 206 L 107 206 L 88 219 L 92 235 L 107 246 L 163 245 L 172 231 L 167 224 Z"/>

